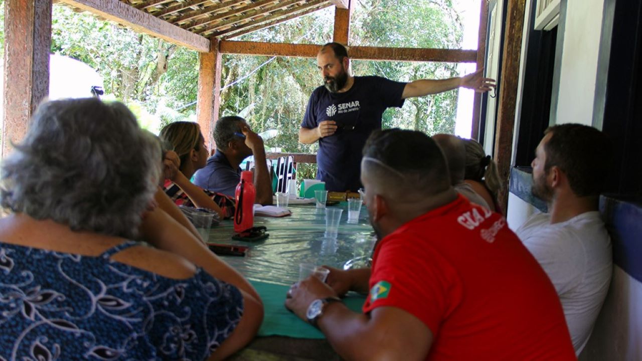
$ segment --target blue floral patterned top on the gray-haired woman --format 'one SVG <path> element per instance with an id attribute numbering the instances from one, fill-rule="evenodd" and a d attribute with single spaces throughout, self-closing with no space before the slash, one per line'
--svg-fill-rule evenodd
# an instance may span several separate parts
<path id="1" fill-rule="evenodd" d="M 238 288 L 0 243 L 0 360 L 205 360 L 243 314 Z"/>

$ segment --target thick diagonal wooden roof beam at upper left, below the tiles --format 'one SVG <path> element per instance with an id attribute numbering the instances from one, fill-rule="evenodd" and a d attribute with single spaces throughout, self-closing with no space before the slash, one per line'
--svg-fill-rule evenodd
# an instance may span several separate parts
<path id="1" fill-rule="evenodd" d="M 209 39 L 183 30 L 167 21 L 118 0 L 58 0 L 75 8 L 118 22 L 139 33 L 146 33 L 186 48 L 209 52 Z"/>

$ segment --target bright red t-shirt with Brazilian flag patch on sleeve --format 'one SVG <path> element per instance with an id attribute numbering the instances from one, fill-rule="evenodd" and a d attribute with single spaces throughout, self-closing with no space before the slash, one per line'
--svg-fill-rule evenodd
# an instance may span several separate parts
<path id="1" fill-rule="evenodd" d="M 497 213 L 454 202 L 374 252 L 363 312 L 394 306 L 428 326 L 426 360 L 575 360 L 555 288 Z"/>

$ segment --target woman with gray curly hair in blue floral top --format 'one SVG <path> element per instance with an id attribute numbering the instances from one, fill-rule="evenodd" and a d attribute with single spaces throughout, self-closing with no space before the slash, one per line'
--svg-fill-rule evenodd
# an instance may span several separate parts
<path id="1" fill-rule="evenodd" d="M 39 107 L 1 168 L 2 359 L 218 360 L 256 335 L 259 295 L 169 216 L 160 164 L 121 103 Z"/>

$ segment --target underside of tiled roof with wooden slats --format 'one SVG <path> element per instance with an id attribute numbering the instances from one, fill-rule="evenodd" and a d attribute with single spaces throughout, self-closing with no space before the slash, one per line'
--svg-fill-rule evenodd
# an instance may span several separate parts
<path id="1" fill-rule="evenodd" d="M 330 0 L 120 0 L 204 37 L 230 39 L 332 6 Z"/>

